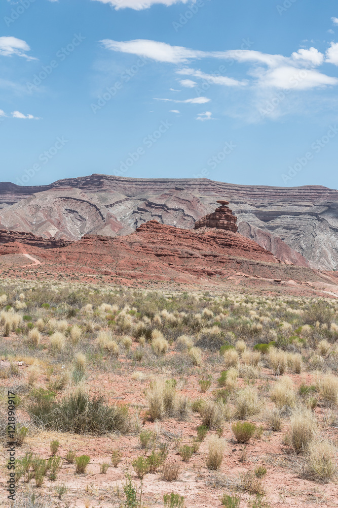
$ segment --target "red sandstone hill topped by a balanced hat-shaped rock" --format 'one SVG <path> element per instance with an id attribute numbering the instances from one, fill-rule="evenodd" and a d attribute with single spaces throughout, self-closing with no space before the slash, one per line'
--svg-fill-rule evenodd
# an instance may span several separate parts
<path id="1" fill-rule="evenodd" d="M 55 239 L 0 232 L 0 270 L 25 276 L 35 274 L 33 278 L 76 274 L 91 280 L 99 275 L 123 284 L 170 281 L 203 285 L 207 280 L 210 287 L 233 275 L 275 282 L 330 279 L 330 283 L 336 283 L 334 276 L 332 280 L 318 270 L 282 262 L 237 233 L 236 217 L 227 204 L 220 201 L 215 212 L 197 221 L 195 230 L 150 220 L 130 235 L 87 234 L 64 246 L 54 246 L 58 243 Z"/>

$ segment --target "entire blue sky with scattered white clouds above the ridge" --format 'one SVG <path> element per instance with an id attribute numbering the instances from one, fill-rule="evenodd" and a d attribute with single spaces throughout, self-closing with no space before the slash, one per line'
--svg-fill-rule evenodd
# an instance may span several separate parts
<path id="1" fill-rule="evenodd" d="M 337 188 L 333 0 L 3 0 L 0 180 Z"/>

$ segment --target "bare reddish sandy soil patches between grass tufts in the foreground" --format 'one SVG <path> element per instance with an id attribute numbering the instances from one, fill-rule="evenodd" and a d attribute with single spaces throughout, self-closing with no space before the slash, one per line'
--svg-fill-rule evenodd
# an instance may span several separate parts
<path id="1" fill-rule="evenodd" d="M 136 343 L 133 344 L 133 347 L 135 346 Z M 139 371 L 143 371 L 146 379 L 143 381 L 134 380 L 131 378 L 134 369 L 126 365 L 124 358 L 120 358 L 119 363 L 120 375 L 117 372 L 97 373 L 90 371 L 86 380 L 87 388 L 93 395 L 104 394 L 110 403 L 127 403 L 130 404 L 131 410 L 138 406 L 142 418 L 146 408 L 144 389 L 149 385 L 151 379 L 154 379 L 155 376 L 156 378 L 159 377 L 159 373 L 152 372 L 151 369 L 141 368 Z M 27 365 L 25 364 L 19 367 L 22 373 L 26 368 Z M 212 397 L 211 391 L 217 388 L 216 379 L 221 370 L 221 365 L 215 367 L 212 386 L 203 395 L 203 398 Z M 304 381 L 311 384 L 311 374 L 309 373 L 288 375 L 292 378 L 295 387 L 298 387 Z M 180 393 L 192 400 L 200 398 L 202 396 L 198 385 L 200 377 L 197 372 L 179 383 Z M 261 379 L 256 380 L 256 387 L 264 394 L 267 386 L 273 386 L 275 382 L 276 377 L 272 372 L 269 369 L 263 369 Z M 46 379 L 42 376 L 37 380 L 37 383 L 45 384 Z M 244 379 L 240 379 L 239 386 L 246 386 Z M 322 421 L 326 437 L 338 444 L 338 430 L 332 426 L 329 427 L 325 423 L 328 409 L 317 407 L 316 414 L 319 421 Z M 336 483 L 320 484 L 302 478 L 302 457 L 290 453 L 282 443 L 283 434 L 287 431 L 287 424 L 285 424 L 282 431 L 271 432 L 264 422 L 264 416 L 261 420 L 258 418 L 254 421 L 258 425 L 264 426 L 265 431 L 260 439 L 251 440 L 246 445 L 248 459 L 243 463 L 239 460 L 242 445 L 236 442 L 231 431 L 231 424 L 226 424 L 223 433 L 223 438 L 226 441 L 226 452 L 221 468 L 217 473 L 208 471 L 205 466 L 207 439 L 202 443 L 199 452 L 194 454 L 188 463 L 182 462 L 177 449 L 173 447 L 173 434 L 182 433 L 181 444 L 190 444 L 192 439 L 196 437 L 196 429 L 201 423 L 198 414 L 194 413 L 192 418 L 186 422 L 178 422 L 175 419 L 166 419 L 160 422 L 160 426 L 157 427 L 160 430 L 160 440 L 170 444 L 170 453 L 167 460 L 180 463 L 181 472 L 178 480 L 173 483 L 161 480 L 159 473 L 147 474 L 143 488 L 145 506 L 154 506 L 156 500 L 162 503 L 163 493 L 172 491 L 185 497 L 186 508 L 221 506 L 219 496 L 230 491 L 229 487 L 218 485 L 217 479 L 218 482 L 222 478 L 224 481 L 225 477 L 233 481 L 238 480 L 240 473 L 253 470 L 259 465 L 264 465 L 268 469 L 264 486 L 272 508 L 288 506 L 305 508 L 309 504 L 317 503 L 323 508 L 338 506 L 338 486 Z M 287 422 L 287 418 L 285 421 Z M 155 424 L 145 418 L 143 423 L 141 422 L 141 427 L 154 430 Z M 209 435 L 216 435 L 216 433 L 214 431 L 209 432 Z M 87 454 L 91 457 L 86 474 L 76 475 L 74 474 L 74 465 L 64 463 L 58 474 L 57 482 L 50 482 L 46 478 L 43 490 L 47 488 L 49 492 L 53 492 L 55 484 L 67 484 L 70 488 L 67 497 L 72 499 L 72 506 L 76 502 L 77 508 L 84 508 L 85 499 L 93 500 L 90 506 L 97 506 L 97 498 L 100 499 L 99 506 L 102 508 L 111 506 L 112 501 L 114 502 L 113 505 L 117 506 L 116 486 L 120 486 L 121 492 L 127 470 L 133 475 L 133 480 L 139 484 L 133 473 L 131 462 L 138 456 L 143 455 L 144 450 L 140 448 L 136 435 L 92 437 L 43 431 L 27 438 L 26 444 L 18 449 L 17 453 L 21 456 L 29 449 L 33 453 L 48 458 L 50 456 L 50 442 L 53 439 L 58 439 L 61 443 L 58 451 L 58 455 L 61 457 L 64 457 L 70 448 L 77 453 L 77 456 Z M 109 462 L 111 451 L 115 449 L 123 453 L 122 462 L 117 468 L 110 467 L 106 474 L 100 474 L 99 464 Z M 24 486 L 25 484 L 22 484 L 21 481 L 21 488 Z M 241 507 L 246 506 L 245 501 L 249 499 L 249 495 L 243 492 L 239 492 L 237 495 L 242 498 Z M 96 502 L 94 502 L 94 499 Z"/>

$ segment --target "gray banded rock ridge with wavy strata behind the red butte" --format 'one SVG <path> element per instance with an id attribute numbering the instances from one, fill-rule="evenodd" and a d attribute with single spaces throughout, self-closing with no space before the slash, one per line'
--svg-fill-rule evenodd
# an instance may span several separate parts
<path id="1" fill-rule="evenodd" d="M 268 187 L 201 179 L 91 175 L 50 185 L 0 183 L 0 229 L 77 240 L 86 233 L 126 235 L 148 220 L 193 229 L 228 200 L 239 232 L 282 261 L 338 267 L 338 190 Z"/>

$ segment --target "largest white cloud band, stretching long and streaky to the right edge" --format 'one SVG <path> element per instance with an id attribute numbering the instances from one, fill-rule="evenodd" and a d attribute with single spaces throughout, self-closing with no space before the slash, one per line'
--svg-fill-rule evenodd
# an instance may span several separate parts
<path id="1" fill-rule="evenodd" d="M 207 74 L 201 70 L 183 68 L 176 70 L 177 74 L 205 80 L 209 84 L 223 86 L 245 86 L 251 83 L 254 87 L 262 88 L 284 88 L 306 90 L 316 87 L 337 85 L 338 79 L 327 76 L 314 67 L 320 66 L 324 61 L 324 55 L 316 48 L 298 49 L 291 56 L 271 55 L 253 50 L 228 50 L 228 51 L 199 51 L 182 46 L 171 46 L 163 42 L 137 39 L 134 41 L 117 42 L 109 39 L 101 41 L 103 47 L 112 51 L 135 54 L 142 57 L 152 58 L 158 62 L 184 64 L 192 59 L 217 58 L 223 60 L 236 60 L 239 63 L 251 64 L 246 71 L 251 77 L 239 81 L 220 73 Z M 331 43 L 326 51 L 327 62 L 338 65 L 338 43 Z M 185 83 L 185 85 L 184 85 Z M 182 80 L 183 86 L 193 86 L 193 80 Z"/>

